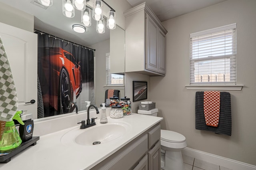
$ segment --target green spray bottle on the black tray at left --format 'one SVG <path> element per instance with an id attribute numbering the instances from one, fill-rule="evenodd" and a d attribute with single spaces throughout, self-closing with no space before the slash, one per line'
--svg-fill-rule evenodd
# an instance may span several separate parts
<path id="1" fill-rule="evenodd" d="M 17 111 L 12 120 L 17 120 L 21 125 L 24 125 L 20 118 L 22 111 Z M 4 134 L 0 140 L 0 150 L 11 150 L 20 146 L 22 140 L 14 125 L 14 121 L 6 122 Z"/>

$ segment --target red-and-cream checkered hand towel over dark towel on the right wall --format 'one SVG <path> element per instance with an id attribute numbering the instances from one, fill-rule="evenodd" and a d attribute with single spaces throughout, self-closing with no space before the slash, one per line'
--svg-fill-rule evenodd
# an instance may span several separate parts
<path id="1" fill-rule="evenodd" d="M 220 120 L 220 91 L 204 91 L 204 119 L 206 125 L 218 127 Z"/>

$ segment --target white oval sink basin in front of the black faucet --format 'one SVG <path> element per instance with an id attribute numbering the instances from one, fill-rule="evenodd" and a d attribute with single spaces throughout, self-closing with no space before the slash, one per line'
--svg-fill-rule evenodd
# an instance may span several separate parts
<path id="1" fill-rule="evenodd" d="M 94 144 L 104 144 L 113 140 L 122 138 L 130 129 L 128 123 L 121 121 L 108 121 L 106 124 L 96 122 L 93 127 L 80 129 L 76 127 L 61 138 L 61 142 L 70 146 L 70 144 L 80 144 L 92 146 Z"/>

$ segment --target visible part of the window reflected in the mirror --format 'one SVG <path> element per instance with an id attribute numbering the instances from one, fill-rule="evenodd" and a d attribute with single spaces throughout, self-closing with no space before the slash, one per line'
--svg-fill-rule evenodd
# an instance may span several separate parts
<path id="1" fill-rule="evenodd" d="M 106 53 L 106 85 L 123 85 L 124 75 L 110 73 L 110 53 Z"/>

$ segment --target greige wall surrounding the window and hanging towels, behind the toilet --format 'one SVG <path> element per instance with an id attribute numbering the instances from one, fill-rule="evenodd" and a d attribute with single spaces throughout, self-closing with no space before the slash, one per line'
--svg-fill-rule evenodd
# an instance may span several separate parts
<path id="1" fill-rule="evenodd" d="M 195 129 L 195 93 L 190 79 L 190 33 L 237 23 L 237 84 L 231 94 L 232 136 Z M 186 136 L 189 148 L 256 165 L 256 0 L 228 0 L 163 22 L 166 76 L 150 78 L 162 128 Z"/>

